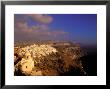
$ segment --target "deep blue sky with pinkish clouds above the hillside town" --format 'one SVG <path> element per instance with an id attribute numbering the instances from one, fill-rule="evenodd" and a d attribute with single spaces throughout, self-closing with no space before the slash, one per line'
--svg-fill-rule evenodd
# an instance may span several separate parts
<path id="1" fill-rule="evenodd" d="M 97 44 L 96 14 L 15 14 L 15 41 L 67 40 Z"/>

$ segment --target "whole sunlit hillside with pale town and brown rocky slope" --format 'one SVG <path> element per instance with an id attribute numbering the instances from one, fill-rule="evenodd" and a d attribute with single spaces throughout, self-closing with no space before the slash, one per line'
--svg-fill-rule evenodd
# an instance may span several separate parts
<path id="1" fill-rule="evenodd" d="M 79 70 L 85 75 L 80 60 L 84 55 L 79 46 L 69 43 L 15 47 L 14 74 L 15 76 L 59 76 Z"/>

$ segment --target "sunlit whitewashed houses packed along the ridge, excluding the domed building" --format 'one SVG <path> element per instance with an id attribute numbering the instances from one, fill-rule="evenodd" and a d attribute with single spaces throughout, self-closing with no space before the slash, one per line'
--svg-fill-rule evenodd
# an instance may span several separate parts
<path id="1" fill-rule="evenodd" d="M 57 50 L 50 45 L 30 45 L 20 48 L 19 55 L 24 56 L 26 52 L 29 52 L 33 58 L 41 58 L 42 56 L 47 56 L 51 53 L 56 53 Z"/>

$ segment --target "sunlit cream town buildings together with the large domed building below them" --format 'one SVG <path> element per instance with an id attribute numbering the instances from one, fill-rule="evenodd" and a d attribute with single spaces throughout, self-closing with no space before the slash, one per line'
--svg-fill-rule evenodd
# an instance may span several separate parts
<path id="1" fill-rule="evenodd" d="M 57 50 L 50 45 L 30 45 L 23 48 L 19 48 L 18 56 L 21 56 L 21 61 L 17 64 L 20 65 L 20 70 L 24 74 L 31 74 L 32 69 L 34 68 L 34 58 L 42 58 L 51 53 L 56 53 Z M 16 59 L 16 56 L 15 56 Z M 33 74 L 33 73 L 32 73 Z M 36 75 L 39 75 L 39 72 L 35 72 Z"/>

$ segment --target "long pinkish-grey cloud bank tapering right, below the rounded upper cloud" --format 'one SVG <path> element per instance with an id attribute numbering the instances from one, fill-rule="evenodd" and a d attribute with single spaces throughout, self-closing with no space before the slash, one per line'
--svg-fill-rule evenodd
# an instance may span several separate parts
<path id="1" fill-rule="evenodd" d="M 36 25 L 29 27 L 27 23 L 18 22 L 15 26 L 15 32 L 19 31 L 21 33 L 30 34 L 30 35 L 47 35 L 47 36 L 58 36 L 58 35 L 65 35 L 67 32 L 63 30 L 51 30 L 47 25 Z M 17 32 L 18 32 L 17 31 Z"/>

